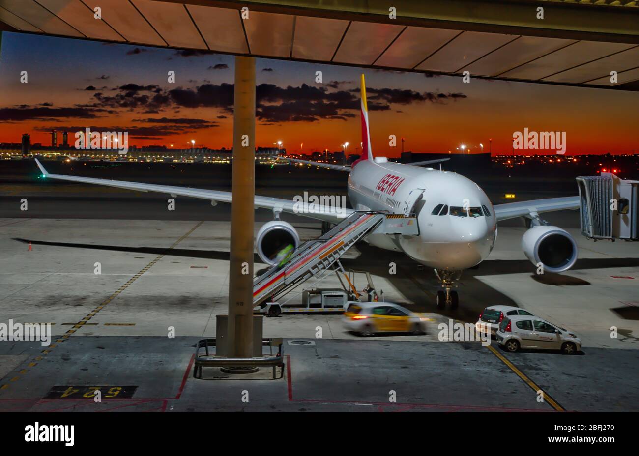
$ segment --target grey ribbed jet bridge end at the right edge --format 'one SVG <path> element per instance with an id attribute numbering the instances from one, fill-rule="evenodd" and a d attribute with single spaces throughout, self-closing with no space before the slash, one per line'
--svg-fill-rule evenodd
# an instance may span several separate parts
<path id="1" fill-rule="evenodd" d="M 639 240 L 639 181 L 610 172 L 576 178 L 581 234 L 589 239 Z"/>

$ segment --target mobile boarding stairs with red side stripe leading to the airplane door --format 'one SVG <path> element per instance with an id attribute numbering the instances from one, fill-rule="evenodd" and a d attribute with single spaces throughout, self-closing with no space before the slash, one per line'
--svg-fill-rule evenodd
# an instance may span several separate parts
<path id="1" fill-rule="evenodd" d="M 386 211 L 357 211 L 330 231 L 306 241 L 293 252 L 280 268 L 273 266 L 253 282 L 253 305 L 275 300 L 311 278 L 320 279 L 332 272 L 331 266 L 357 241 L 375 234 L 419 234 L 415 215 L 389 214 Z"/>

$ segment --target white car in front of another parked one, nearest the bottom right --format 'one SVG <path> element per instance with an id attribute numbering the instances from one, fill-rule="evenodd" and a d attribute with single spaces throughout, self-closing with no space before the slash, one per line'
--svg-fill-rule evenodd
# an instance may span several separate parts
<path id="1" fill-rule="evenodd" d="M 497 342 L 511 353 L 522 348 L 560 350 L 565 354 L 581 350 L 581 339 L 572 331 L 528 315 L 504 317 L 497 330 Z"/>

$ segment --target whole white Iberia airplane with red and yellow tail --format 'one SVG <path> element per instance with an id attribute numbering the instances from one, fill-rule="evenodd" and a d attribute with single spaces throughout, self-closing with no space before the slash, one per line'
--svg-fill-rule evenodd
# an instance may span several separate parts
<path id="1" fill-rule="evenodd" d="M 256 250 L 266 264 L 275 264 L 274 258 L 282 245 L 297 247 L 300 238 L 295 228 L 280 220 L 282 212 L 303 215 L 337 224 L 355 211 L 387 211 L 393 214 L 417 217 L 419 234 L 369 234 L 364 239 L 374 247 L 408 255 L 413 261 L 432 268 L 442 289 L 436 294 L 436 305 L 457 308 L 458 292 L 453 288 L 463 270 L 484 261 L 495 246 L 497 222 L 524 217 L 528 230 L 521 239 L 521 248 L 528 259 L 546 272 L 569 270 L 576 262 L 577 244 L 560 227 L 548 225 L 541 213 L 578 209 L 580 198 L 559 197 L 493 205 L 484 191 L 472 180 L 455 172 L 422 168 L 422 165 L 443 162 L 425 160 L 413 163 L 389 162 L 386 157 L 374 156 L 371 149 L 366 84 L 361 79 L 362 155 L 351 165 L 310 162 L 281 157 L 289 162 L 307 163 L 329 169 L 349 172 L 348 197 L 353 209 L 342 211 L 316 206 L 311 213 L 300 213 L 295 201 L 255 196 L 256 208 L 272 209 L 273 218 L 263 225 L 256 236 Z M 160 192 L 172 197 L 187 196 L 217 202 L 231 202 L 231 192 L 199 188 L 154 185 L 111 179 L 83 178 L 49 174 L 42 163 L 36 163 L 45 178 L 60 179 L 96 185 L 106 185 L 141 192 Z"/>

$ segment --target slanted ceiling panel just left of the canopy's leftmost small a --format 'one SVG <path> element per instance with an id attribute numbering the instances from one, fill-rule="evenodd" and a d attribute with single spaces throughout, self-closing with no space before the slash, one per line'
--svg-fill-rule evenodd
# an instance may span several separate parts
<path id="1" fill-rule="evenodd" d="M 94 11 L 80 0 L 38 0 L 38 3 L 88 38 L 124 41 L 104 20 L 95 19 Z"/>

